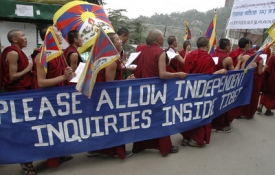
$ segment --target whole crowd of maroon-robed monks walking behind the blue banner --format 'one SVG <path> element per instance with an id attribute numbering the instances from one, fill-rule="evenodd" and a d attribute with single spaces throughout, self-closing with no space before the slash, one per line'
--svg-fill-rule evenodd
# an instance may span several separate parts
<path id="1" fill-rule="evenodd" d="M 40 37 L 43 40 L 48 27 L 52 27 L 59 44 L 61 44 L 61 33 L 54 26 L 45 26 L 40 29 Z M 230 70 L 244 69 L 248 58 L 256 52 L 251 49 L 251 42 L 247 38 L 241 38 L 238 48 L 231 51 L 229 39 L 221 38 L 219 46 L 212 55 L 208 54 L 210 48 L 209 41 L 205 37 L 197 40 L 197 49 L 192 51 L 191 43 L 185 41 L 183 50 L 178 52 L 178 40 L 175 36 L 168 37 L 169 47 L 163 49 L 164 36 L 160 30 L 154 29 L 148 33 L 146 44 L 141 44 L 136 51 L 141 51 L 135 60 L 136 68 L 124 67 L 125 52 L 122 45 L 127 42 L 130 33 L 122 28 L 117 33 L 108 33 L 114 44 L 120 59 L 116 60 L 106 68 L 100 70 L 97 75 L 97 82 L 107 82 L 123 79 L 123 71 L 132 72 L 126 79 L 160 77 L 161 79 L 180 78 L 184 79 L 187 74 L 226 74 Z M 47 72 L 40 64 L 41 49 L 35 49 L 31 55 L 32 60 L 22 51 L 27 46 L 27 38 L 20 30 L 11 30 L 7 34 L 11 46 L 4 49 L 0 59 L 0 87 L 4 92 L 24 91 L 30 89 L 47 88 L 54 86 L 67 86 L 72 83 L 69 80 L 75 75 L 75 70 L 82 59 L 77 49 L 82 46 L 82 38 L 78 31 L 72 30 L 68 33 L 69 47 L 64 54 L 56 57 L 47 63 Z M 172 50 L 177 55 L 169 59 L 166 51 Z M 253 76 L 253 90 L 251 100 L 248 105 L 239 106 L 227 111 L 215 118 L 211 123 L 182 132 L 182 146 L 204 147 L 210 142 L 211 130 L 216 132 L 231 132 L 230 124 L 235 118 L 253 118 L 256 111 L 262 112 L 263 106 L 267 109 L 265 115 L 274 115 L 275 109 L 275 55 L 270 50 L 266 51 L 267 62 L 263 64 L 263 59 L 258 56 L 255 63 Z M 215 64 L 212 57 L 218 57 Z M 260 94 L 261 92 L 261 94 Z M 260 105 L 258 106 L 260 99 Z M 87 156 L 118 156 L 121 159 L 131 156 L 133 153 L 141 152 L 145 149 L 157 149 L 165 156 L 169 153 L 178 152 L 178 147 L 173 146 L 170 136 L 144 140 L 133 143 L 131 151 L 125 150 L 125 145 L 112 148 L 93 150 Z M 59 163 L 72 159 L 72 156 L 50 158 L 47 160 L 49 167 L 56 167 Z M 35 170 L 32 162 L 21 163 L 21 167 L 28 175 L 34 175 Z"/>

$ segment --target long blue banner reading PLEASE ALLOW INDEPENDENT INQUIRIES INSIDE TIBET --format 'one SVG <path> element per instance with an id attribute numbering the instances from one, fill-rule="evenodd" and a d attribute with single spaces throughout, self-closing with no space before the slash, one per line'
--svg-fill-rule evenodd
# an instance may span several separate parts
<path id="1" fill-rule="evenodd" d="M 0 164 L 28 162 L 168 136 L 248 104 L 253 71 L 97 83 L 0 94 Z"/>

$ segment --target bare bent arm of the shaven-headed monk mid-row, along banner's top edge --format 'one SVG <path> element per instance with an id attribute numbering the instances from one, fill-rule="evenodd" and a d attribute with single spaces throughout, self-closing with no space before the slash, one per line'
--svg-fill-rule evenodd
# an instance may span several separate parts
<path id="1" fill-rule="evenodd" d="M 165 62 L 165 52 L 163 52 L 158 61 L 159 66 L 159 77 L 161 79 L 169 79 L 169 78 L 185 78 L 187 76 L 184 72 L 176 72 L 176 73 L 170 73 L 166 71 L 166 62 Z"/>

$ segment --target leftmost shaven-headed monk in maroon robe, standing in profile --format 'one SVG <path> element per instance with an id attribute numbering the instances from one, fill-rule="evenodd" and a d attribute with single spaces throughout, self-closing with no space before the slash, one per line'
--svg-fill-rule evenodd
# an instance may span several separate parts
<path id="1" fill-rule="evenodd" d="M 9 31 L 7 38 L 11 46 L 4 49 L 0 59 L 3 89 L 6 92 L 30 90 L 33 63 L 29 63 L 28 57 L 22 51 L 27 47 L 27 38 L 20 30 Z M 32 162 L 21 163 L 21 167 L 26 174 L 35 174 Z"/>

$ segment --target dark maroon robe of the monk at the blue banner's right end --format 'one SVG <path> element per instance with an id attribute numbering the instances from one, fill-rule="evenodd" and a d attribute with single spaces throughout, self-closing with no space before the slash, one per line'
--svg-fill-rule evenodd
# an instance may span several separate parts
<path id="1" fill-rule="evenodd" d="M 243 106 L 242 111 L 240 112 L 240 116 L 253 118 L 255 112 L 257 111 L 259 97 L 260 97 L 261 82 L 263 77 L 263 75 L 258 74 L 258 66 L 259 66 L 259 61 L 261 59 L 262 58 L 259 56 L 255 59 L 255 62 L 257 63 L 257 68 L 255 69 L 254 75 L 253 75 L 253 88 L 252 88 L 252 93 L 250 97 L 250 103 Z"/>

